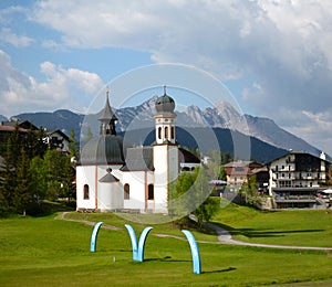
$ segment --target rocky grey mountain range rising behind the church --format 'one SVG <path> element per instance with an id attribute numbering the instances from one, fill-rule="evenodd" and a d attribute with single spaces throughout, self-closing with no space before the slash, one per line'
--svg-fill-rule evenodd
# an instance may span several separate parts
<path id="1" fill-rule="evenodd" d="M 154 96 L 136 107 L 114 109 L 118 118 L 116 124 L 118 132 L 124 134 L 124 131 L 128 132 L 129 130 L 132 132 L 134 130 L 145 130 L 144 132 L 134 132 L 136 136 L 131 138 L 134 139 L 134 144 L 136 145 L 151 144 L 148 142 L 151 139 L 147 140 L 151 136 L 147 137 L 147 135 L 151 134 L 154 128 L 156 98 L 157 97 Z M 101 106 L 101 109 L 102 108 Z M 249 138 L 252 146 L 251 149 L 258 149 L 256 152 L 251 150 L 251 156 L 261 161 L 269 161 L 273 159 L 273 157 L 279 157 L 290 149 L 305 151 L 315 156 L 320 156 L 321 153 L 319 149 L 303 139 L 280 128 L 273 120 L 246 114 L 241 115 L 227 102 L 220 102 L 214 107 L 205 109 L 191 105 L 184 110 L 176 111 L 176 126 L 178 127 L 177 137 L 181 139 L 179 140 L 178 138 L 178 141 L 183 146 L 195 147 L 195 144 L 188 140 L 188 135 L 186 136 L 187 138 L 181 136 L 185 135 L 184 130 L 187 130 L 187 134 L 196 134 L 199 131 L 203 135 L 203 130 L 209 128 L 215 131 L 218 141 L 222 139 L 221 142 L 219 142 L 221 147 L 225 147 L 225 142 L 228 142 L 231 137 Z M 87 129 L 94 135 L 98 132 L 98 114 L 82 115 L 68 109 L 59 109 L 53 113 L 25 113 L 15 115 L 12 118 L 29 120 L 38 127 L 50 130 L 60 129 L 66 135 L 69 135 L 73 128 L 76 138 L 81 138 L 81 140 L 84 139 Z M 0 116 L 0 119 L 4 120 L 4 117 Z M 79 135 L 81 135 L 81 137 Z M 142 138 L 142 135 L 145 135 L 145 138 Z M 208 145 L 209 142 L 205 146 L 208 147 Z M 228 145 L 228 147 L 222 148 L 222 150 L 225 149 L 225 151 L 227 151 L 227 149 L 230 149 L 231 151 L 230 146 Z M 258 147 L 260 147 L 260 150 Z M 268 152 L 269 149 L 270 151 Z M 260 156 L 260 153 L 266 156 Z"/>

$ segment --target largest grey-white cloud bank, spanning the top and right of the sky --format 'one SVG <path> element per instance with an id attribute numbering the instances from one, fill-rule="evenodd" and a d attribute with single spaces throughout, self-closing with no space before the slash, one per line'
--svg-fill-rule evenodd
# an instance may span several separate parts
<path id="1" fill-rule="evenodd" d="M 238 96 L 250 110 L 292 123 L 300 137 L 310 132 L 295 128 L 298 121 L 308 123 L 308 130 L 322 125 L 302 110 L 320 115 L 331 108 L 331 1 L 45 0 L 29 19 L 60 32 L 61 43 L 44 45 L 141 50 L 157 63 L 180 62 L 221 81 L 242 81 L 247 86 Z M 61 67 L 53 72 L 69 75 Z"/>

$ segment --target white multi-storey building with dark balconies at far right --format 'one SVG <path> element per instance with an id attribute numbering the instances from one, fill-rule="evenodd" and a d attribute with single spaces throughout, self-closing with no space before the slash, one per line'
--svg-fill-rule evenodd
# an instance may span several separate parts
<path id="1" fill-rule="evenodd" d="M 319 208 L 323 205 L 318 193 L 326 183 L 331 163 L 322 152 L 320 157 L 301 152 L 289 153 L 268 163 L 270 182 L 269 194 L 277 209 Z"/>

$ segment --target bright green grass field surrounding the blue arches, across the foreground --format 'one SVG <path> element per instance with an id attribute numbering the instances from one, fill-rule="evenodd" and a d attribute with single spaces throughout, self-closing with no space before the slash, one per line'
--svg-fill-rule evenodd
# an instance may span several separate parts
<path id="1" fill-rule="evenodd" d="M 236 211 L 237 210 L 237 211 Z M 301 213 L 302 212 L 302 213 Z M 312 217 L 310 211 L 266 213 L 236 205 L 222 209 L 215 217 L 230 226 L 237 236 L 264 241 L 264 236 L 246 236 L 262 233 L 268 228 L 272 235 L 284 233 L 290 238 L 307 234 L 331 232 L 331 217 L 325 225 L 301 223 L 291 227 L 293 221 Z M 250 220 L 250 216 L 256 220 Z M 272 214 L 272 215 L 270 215 Z M 278 214 L 278 215 L 276 215 Z M 283 224 L 273 227 L 274 221 L 283 215 Z M 323 213 L 322 213 L 323 214 Z M 172 223 L 154 225 L 145 248 L 145 262 L 132 261 L 131 242 L 123 224 L 125 221 L 112 214 L 68 214 L 76 220 L 104 221 L 121 227 L 120 231 L 102 228 L 97 252 L 90 253 L 92 226 L 79 222 L 55 220 L 55 214 L 44 217 L 10 217 L 0 220 L 0 286 L 331 286 L 332 253 L 318 251 L 271 249 L 222 245 L 216 236 L 195 232 L 199 243 L 203 274 L 193 274 L 191 255 L 186 241 L 159 237 L 157 233 L 184 237 Z M 271 216 L 271 217 L 270 217 Z M 277 217 L 274 217 L 277 216 Z M 263 223 L 271 221 L 269 227 Z M 253 225 L 253 222 L 258 222 Z M 259 223 L 260 222 L 260 223 Z M 136 233 L 143 225 L 131 223 Z M 304 226 L 307 231 L 300 231 Z M 240 232 L 242 234 L 240 234 Z M 264 233 L 267 231 L 264 230 Z M 331 233 L 330 233 L 331 234 Z M 268 234 L 269 235 L 269 234 Z M 185 238 L 185 237 L 184 237 Z M 270 240 L 270 237 L 268 236 Z M 304 240 L 304 238 L 303 238 Z M 321 246 L 313 236 L 305 245 Z M 331 242 L 330 242 L 331 245 Z"/>

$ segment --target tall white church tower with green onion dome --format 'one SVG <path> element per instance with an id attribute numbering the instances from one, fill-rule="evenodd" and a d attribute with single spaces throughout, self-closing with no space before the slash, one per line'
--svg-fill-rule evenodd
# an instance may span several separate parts
<path id="1" fill-rule="evenodd" d="M 166 94 L 157 98 L 155 115 L 154 168 L 155 210 L 167 212 L 168 185 L 179 173 L 178 145 L 175 137 L 175 102 Z"/>

